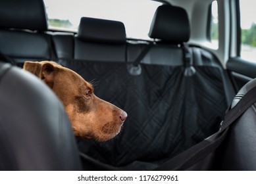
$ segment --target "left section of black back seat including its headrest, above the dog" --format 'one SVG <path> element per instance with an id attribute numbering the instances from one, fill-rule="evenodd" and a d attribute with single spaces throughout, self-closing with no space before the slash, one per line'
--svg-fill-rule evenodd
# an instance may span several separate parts
<path id="1" fill-rule="evenodd" d="M 11 57 L 18 66 L 22 66 L 25 60 L 50 60 L 55 57 L 51 35 L 45 33 L 47 20 L 43 1 L 28 0 L 24 3 L 3 0 L 0 18 L 2 55 Z"/>

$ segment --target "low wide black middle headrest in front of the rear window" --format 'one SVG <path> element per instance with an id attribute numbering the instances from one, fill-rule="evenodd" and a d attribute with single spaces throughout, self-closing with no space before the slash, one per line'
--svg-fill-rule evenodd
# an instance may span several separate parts
<path id="1" fill-rule="evenodd" d="M 126 32 L 122 22 L 82 17 L 78 38 L 101 43 L 125 43 Z"/>

